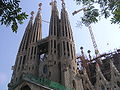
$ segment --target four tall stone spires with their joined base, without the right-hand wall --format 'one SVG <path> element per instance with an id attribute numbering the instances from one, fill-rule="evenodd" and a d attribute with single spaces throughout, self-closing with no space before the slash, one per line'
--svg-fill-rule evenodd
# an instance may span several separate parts
<path id="1" fill-rule="evenodd" d="M 81 87 L 77 85 L 80 81 L 76 78 L 75 45 L 65 2 L 62 0 L 60 17 L 57 1 L 52 0 L 50 5 L 49 35 L 46 38 L 42 39 L 42 3 L 34 23 L 34 12 L 31 12 L 8 85 L 10 90 L 47 90 L 45 88 L 55 88 L 53 83 L 56 83 L 56 88 L 62 88 L 60 90 L 79 90 Z M 52 86 L 42 79 L 50 81 Z"/>

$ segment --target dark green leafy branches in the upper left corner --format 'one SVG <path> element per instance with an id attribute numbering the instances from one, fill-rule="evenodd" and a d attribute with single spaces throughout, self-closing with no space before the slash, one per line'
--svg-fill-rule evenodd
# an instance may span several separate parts
<path id="1" fill-rule="evenodd" d="M 19 3 L 20 0 L 0 0 L 0 23 L 11 26 L 13 32 L 17 32 L 18 24 L 22 24 L 28 16 L 21 11 Z"/>

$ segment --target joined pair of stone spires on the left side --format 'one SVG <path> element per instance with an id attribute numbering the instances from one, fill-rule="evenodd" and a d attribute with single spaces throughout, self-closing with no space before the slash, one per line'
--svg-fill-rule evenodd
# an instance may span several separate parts
<path id="1" fill-rule="evenodd" d="M 25 29 L 25 33 L 17 53 L 11 83 L 18 81 L 23 74 L 38 74 L 39 64 L 37 60 L 37 42 L 42 39 L 41 5 L 42 4 L 40 3 L 34 24 L 34 12 L 31 12 L 29 23 Z"/>

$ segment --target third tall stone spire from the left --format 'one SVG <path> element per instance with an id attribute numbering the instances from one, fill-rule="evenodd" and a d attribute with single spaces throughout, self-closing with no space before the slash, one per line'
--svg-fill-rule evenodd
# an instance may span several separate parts
<path id="1" fill-rule="evenodd" d="M 59 14 L 57 9 L 56 0 L 52 0 L 51 5 L 51 18 L 49 25 L 49 42 L 48 42 L 48 63 L 54 63 L 51 67 L 49 67 L 49 75 L 48 78 L 55 82 L 59 82 L 59 68 L 58 68 L 58 31 L 59 31 Z M 44 63 L 44 62 L 43 62 Z M 42 64 L 43 64 L 42 63 Z M 48 65 L 49 66 L 49 65 Z M 43 73 L 43 77 L 46 74 Z"/>

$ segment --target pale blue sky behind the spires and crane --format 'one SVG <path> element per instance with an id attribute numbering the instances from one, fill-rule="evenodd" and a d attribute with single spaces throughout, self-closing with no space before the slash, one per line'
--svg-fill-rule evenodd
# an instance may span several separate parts
<path id="1" fill-rule="evenodd" d="M 34 11 L 36 15 L 38 4 L 42 2 L 42 18 L 43 20 L 49 21 L 51 12 L 51 6 L 49 5 L 50 1 L 51 0 L 21 0 L 20 5 L 23 8 L 23 11 L 25 11 L 27 14 L 29 14 L 31 11 Z M 65 0 L 65 2 L 69 20 L 73 29 L 76 53 L 79 54 L 79 47 L 83 46 L 85 52 L 90 49 L 93 54 L 94 49 L 88 28 L 84 26 L 82 28 L 76 27 L 76 23 L 80 19 L 80 15 L 82 15 L 82 13 L 72 16 L 72 12 L 80 9 L 81 6 L 76 6 L 74 0 Z M 60 12 L 61 1 L 57 0 L 57 4 Z M 24 24 L 19 25 L 17 33 L 13 33 L 10 27 L 0 26 L 0 90 L 7 90 L 7 84 L 12 75 L 11 66 L 14 65 L 19 44 L 28 21 L 29 17 L 27 20 L 25 20 Z M 43 22 L 43 38 L 48 35 L 48 26 L 49 24 Z M 105 20 L 102 18 L 99 23 L 91 26 L 100 53 L 109 52 L 116 48 L 120 48 L 119 25 L 112 25 L 110 24 L 109 19 Z"/>

